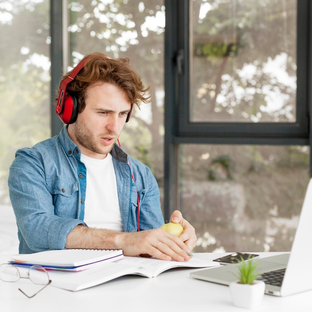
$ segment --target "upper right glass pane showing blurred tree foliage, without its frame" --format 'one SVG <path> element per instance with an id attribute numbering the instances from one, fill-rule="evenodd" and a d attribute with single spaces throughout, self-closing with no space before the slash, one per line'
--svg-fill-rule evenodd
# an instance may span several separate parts
<path id="1" fill-rule="evenodd" d="M 296 122 L 297 1 L 190 2 L 190 121 Z"/>

